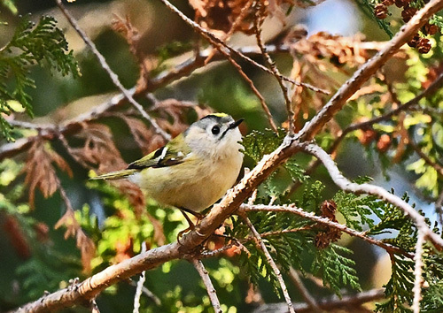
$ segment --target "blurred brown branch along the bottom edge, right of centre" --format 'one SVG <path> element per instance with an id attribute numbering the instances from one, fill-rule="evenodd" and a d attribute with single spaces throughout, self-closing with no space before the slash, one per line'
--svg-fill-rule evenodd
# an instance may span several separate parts
<path id="1" fill-rule="evenodd" d="M 385 298 L 383 289 L 372 289 L 362 292 L 360 294 L 344 295 L 341 299 L 338 296 L 323 298 L 318 300 L 318 305 L 321 309 L 333 311 L 335 309 L 353 308 L 354 306 L 361 305 L 367 302 L 374 302 Z M 294 303 L 294 309 L 297 313 L 312 312 L 307 303 Z M 349 312 L 355 312 L 350 310 Z M 253 313 L 284 313 L 287 312 L 286 303 L 271 303 L 264 304 L 260 308 L 255 309 Z"/>

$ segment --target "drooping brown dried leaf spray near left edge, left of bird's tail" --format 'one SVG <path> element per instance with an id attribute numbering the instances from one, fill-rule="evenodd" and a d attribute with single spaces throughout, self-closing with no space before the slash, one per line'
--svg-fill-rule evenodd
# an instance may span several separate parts
<path id="1" fill-rule="evenodd" d="M 51 149 L 49 143 L 36 140 L 27 154 L 25 183 L 29 186 L 29 205 L 34 208 L 35 188 L 39 188 L 45 198 L 54 195 L 58 189 L 58 176 L 52 163 L 72 177 L 73 172 L 65 159 Z"/>

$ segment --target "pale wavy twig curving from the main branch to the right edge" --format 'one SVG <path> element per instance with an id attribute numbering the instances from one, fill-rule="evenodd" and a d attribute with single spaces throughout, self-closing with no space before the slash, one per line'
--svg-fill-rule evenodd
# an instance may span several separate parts
<path id="1" fill-rule="evenodd" d="M 317 157 L 322 161 L 323 165 L 326 167 L 330 174 L 330 178 L 334 183 L 343 189 L 344 191 L 354 193 L 355 195 L 367 194 L 375 195 L 380 199 L 390 202 L 392 205 L 400 208 L 408 214 L 410 218 L 415 222 L 419 230 L 424 232 L 427 239 L 437 247 L 443 247 L 443 239 L 439 237 L 437 233 L 433 233 L 431 229 L 426 224 L 425 218 L 418 213 L 414 208 L 412 208 L 407 202 L 404 202 L 397 195 L 392 195 L 385 188 L 378 187 L 370 184 L 356 184 L 346 179 L 342 173 L 338 170 L 337 165 L 334 163 L 330 155 L 328 155 L 321 147 L 308 142 L 303 142 L 298 144 L 300 149 L 303 149 L 307 153 Z"/>

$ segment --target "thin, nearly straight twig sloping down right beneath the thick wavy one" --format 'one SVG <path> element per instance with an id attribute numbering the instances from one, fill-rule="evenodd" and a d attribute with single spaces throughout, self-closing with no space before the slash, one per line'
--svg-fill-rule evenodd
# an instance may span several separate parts
<path id="1" fill-rule="evenodd" d="M 337 222 L 332 222 L 329 218 L 318 217 L 314 213 L 307 212 L 306 210 L 302 210 L 300 208 L 297 208 L 293 204 L 273 205 L 273 206 L 268 206 L 265 204 L 253 204 L 253 205 L 242 204 L 238 210 L 246 211 L 246 212 L 247 211 L 256 211 L 256 210 L 265 210 L 265 211 L 270 211 L 270 212 L 289 212 L 291 214 L 296 214 L 302 218 L 308 218 L 312 221 L 315 221 L 316 223 L 320 223 L 323 225 L 328 225 L 328 226 L 337 228 L 338 230 L 340 230 L 344 233 L 350 234 L 351 236 L 368 241 L 369 243 L 371 243 L 377 247 L 384 248 L 387 252 L 396 253 L 396 254 L 399 254 L 402 256 L 407 256 L 408 258 L 411 258 L 411 259 L 414 257 L 411 254 L 409 254 L 408 252 L 404 251 L 403 249 L 391 246 L 390 244 L 387 244 L 383 241 L 368 237 L 365 233 L 357 232 L 354 229 L 347 227 L 346 225 L 342 225 Z"/>

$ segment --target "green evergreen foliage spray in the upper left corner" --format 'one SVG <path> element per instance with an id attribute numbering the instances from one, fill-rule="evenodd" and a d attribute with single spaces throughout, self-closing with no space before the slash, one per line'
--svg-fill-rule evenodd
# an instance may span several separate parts
<path id="1" fill-rule="evenodd" d="M 32 99 L 27 91 L 35 88 L 35 81 L 29 76 L 29 67 L 33 65 L 48 67 L 62 75 L 80 76 L 74 52 L 68 50 L 65 35 L 51 16 L 43 16 L 36 25 L 23 17 L 11 41 L 0 50 L 0 113 L 10 115 L 20 111 L 16 103 L 12 106 L 16 101 L 33 117 Z M 0 132 L 9 141 L 13 139 L 11 129 L 0 115 Z"/>

